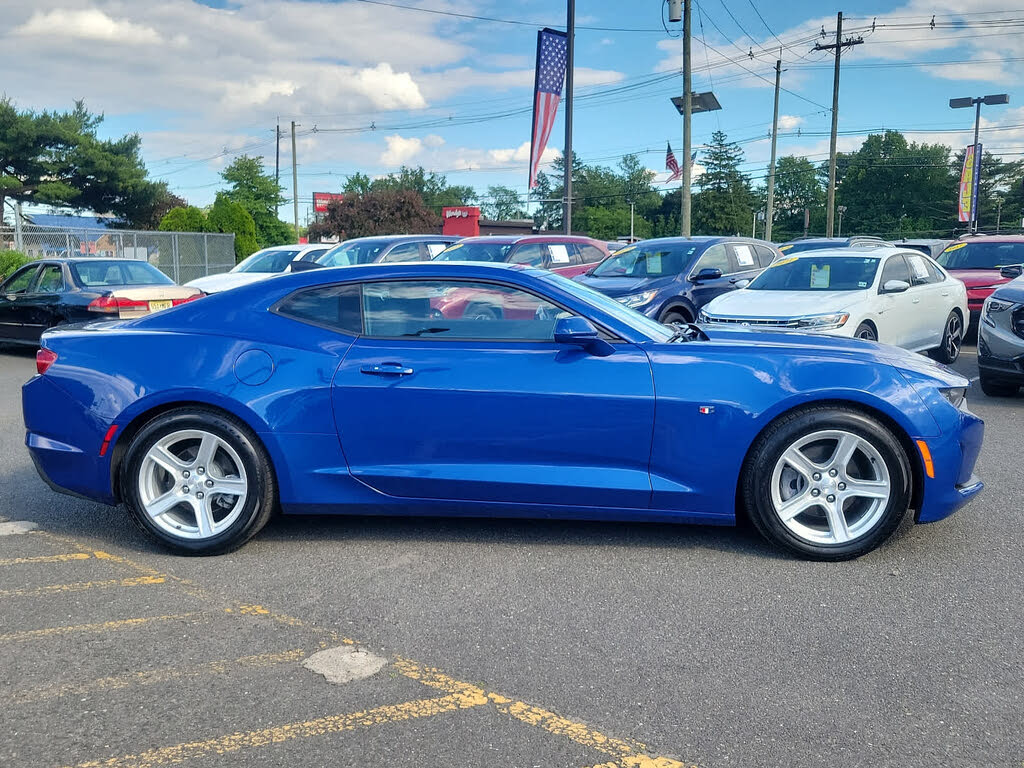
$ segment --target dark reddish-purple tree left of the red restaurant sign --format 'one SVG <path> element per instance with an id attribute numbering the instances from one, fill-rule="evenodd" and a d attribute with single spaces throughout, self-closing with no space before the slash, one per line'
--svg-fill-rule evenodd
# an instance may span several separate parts
<path id="1" fill-rule="evenodd" d="M 328 206 L 321 221 L 309 225 L 314 242 L 325 237 L 342 240 L 370 234 L 418 234 L 440 230 L 441 217 L 413 189 L 383 189 L 346 195 Z"/>

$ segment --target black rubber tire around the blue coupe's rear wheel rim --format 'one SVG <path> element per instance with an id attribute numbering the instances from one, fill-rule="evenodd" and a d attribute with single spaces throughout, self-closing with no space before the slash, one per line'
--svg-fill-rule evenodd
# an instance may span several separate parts
<path id="1" fill-rule="evenodd" d="M 182 539 L 162 529 L 146 514 L 141 500 L 140 470 L 150 450 L 170 434 L 201 430 L 226 442 L 241 460 L 247 495 L 237 518 L 208 539 Z M 131 438 L 120 467 L 122 499 L 131 518 L 151 538 L 182 555 L 219 555 L 238 549 L 266 525 L 276 508 L 276 482 L 266 451 L 244 424 L 219 411 L 182 408 L 161 414 Z"/>

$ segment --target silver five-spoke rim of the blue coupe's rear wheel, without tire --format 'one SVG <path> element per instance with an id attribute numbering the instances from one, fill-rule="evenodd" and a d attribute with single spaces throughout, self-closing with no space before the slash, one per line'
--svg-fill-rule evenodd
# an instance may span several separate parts
<path id="1" fill-rule="evenodd" d="M 200 429 L 161 437 L 138 470 L 142 507 L 178 539 L 211 539 L 238 519 L 249 495 L 246 469 L 224 439 Z"/>

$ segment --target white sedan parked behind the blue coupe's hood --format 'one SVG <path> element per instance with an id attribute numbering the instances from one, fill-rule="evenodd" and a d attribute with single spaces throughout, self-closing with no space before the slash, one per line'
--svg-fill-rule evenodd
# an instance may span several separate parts
<path id="1" fill-rule="evenodd" d="M 748 286 L 709 302 L 698 322 L 793 329 L 959 356 L 967 288 L 920 251 L 813 251 L 774 262 Z"/>

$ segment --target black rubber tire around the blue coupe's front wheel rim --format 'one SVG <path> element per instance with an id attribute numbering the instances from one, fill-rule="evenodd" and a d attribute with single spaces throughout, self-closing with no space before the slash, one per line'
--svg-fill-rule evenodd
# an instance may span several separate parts
<path id="1" fill-rule="evenodd" d="M 845 543 L 817 543 L 801 538 L 783 523 L 772 501 L 773 473 L 782 454 L 799 444 L 801 438 L 822 430 L 841 430 L 869 442 L 885 463 L 890 478 L 889 500 L 881 514 L 869 527 Z M 852 408 L 811 407 L 780 417 L 761 433 L 743 464 L 740 498 L 751 521 L 769 542 L 809 560 L 850 560 L 876 549 L 899 527 L 910 505 L 912 477 L 899 440 L 878 420 Z M 819 508 L 819 512 L 824 518 L 823 509 Z M 812 509 L 810 514 L 819 513 Z"/>

